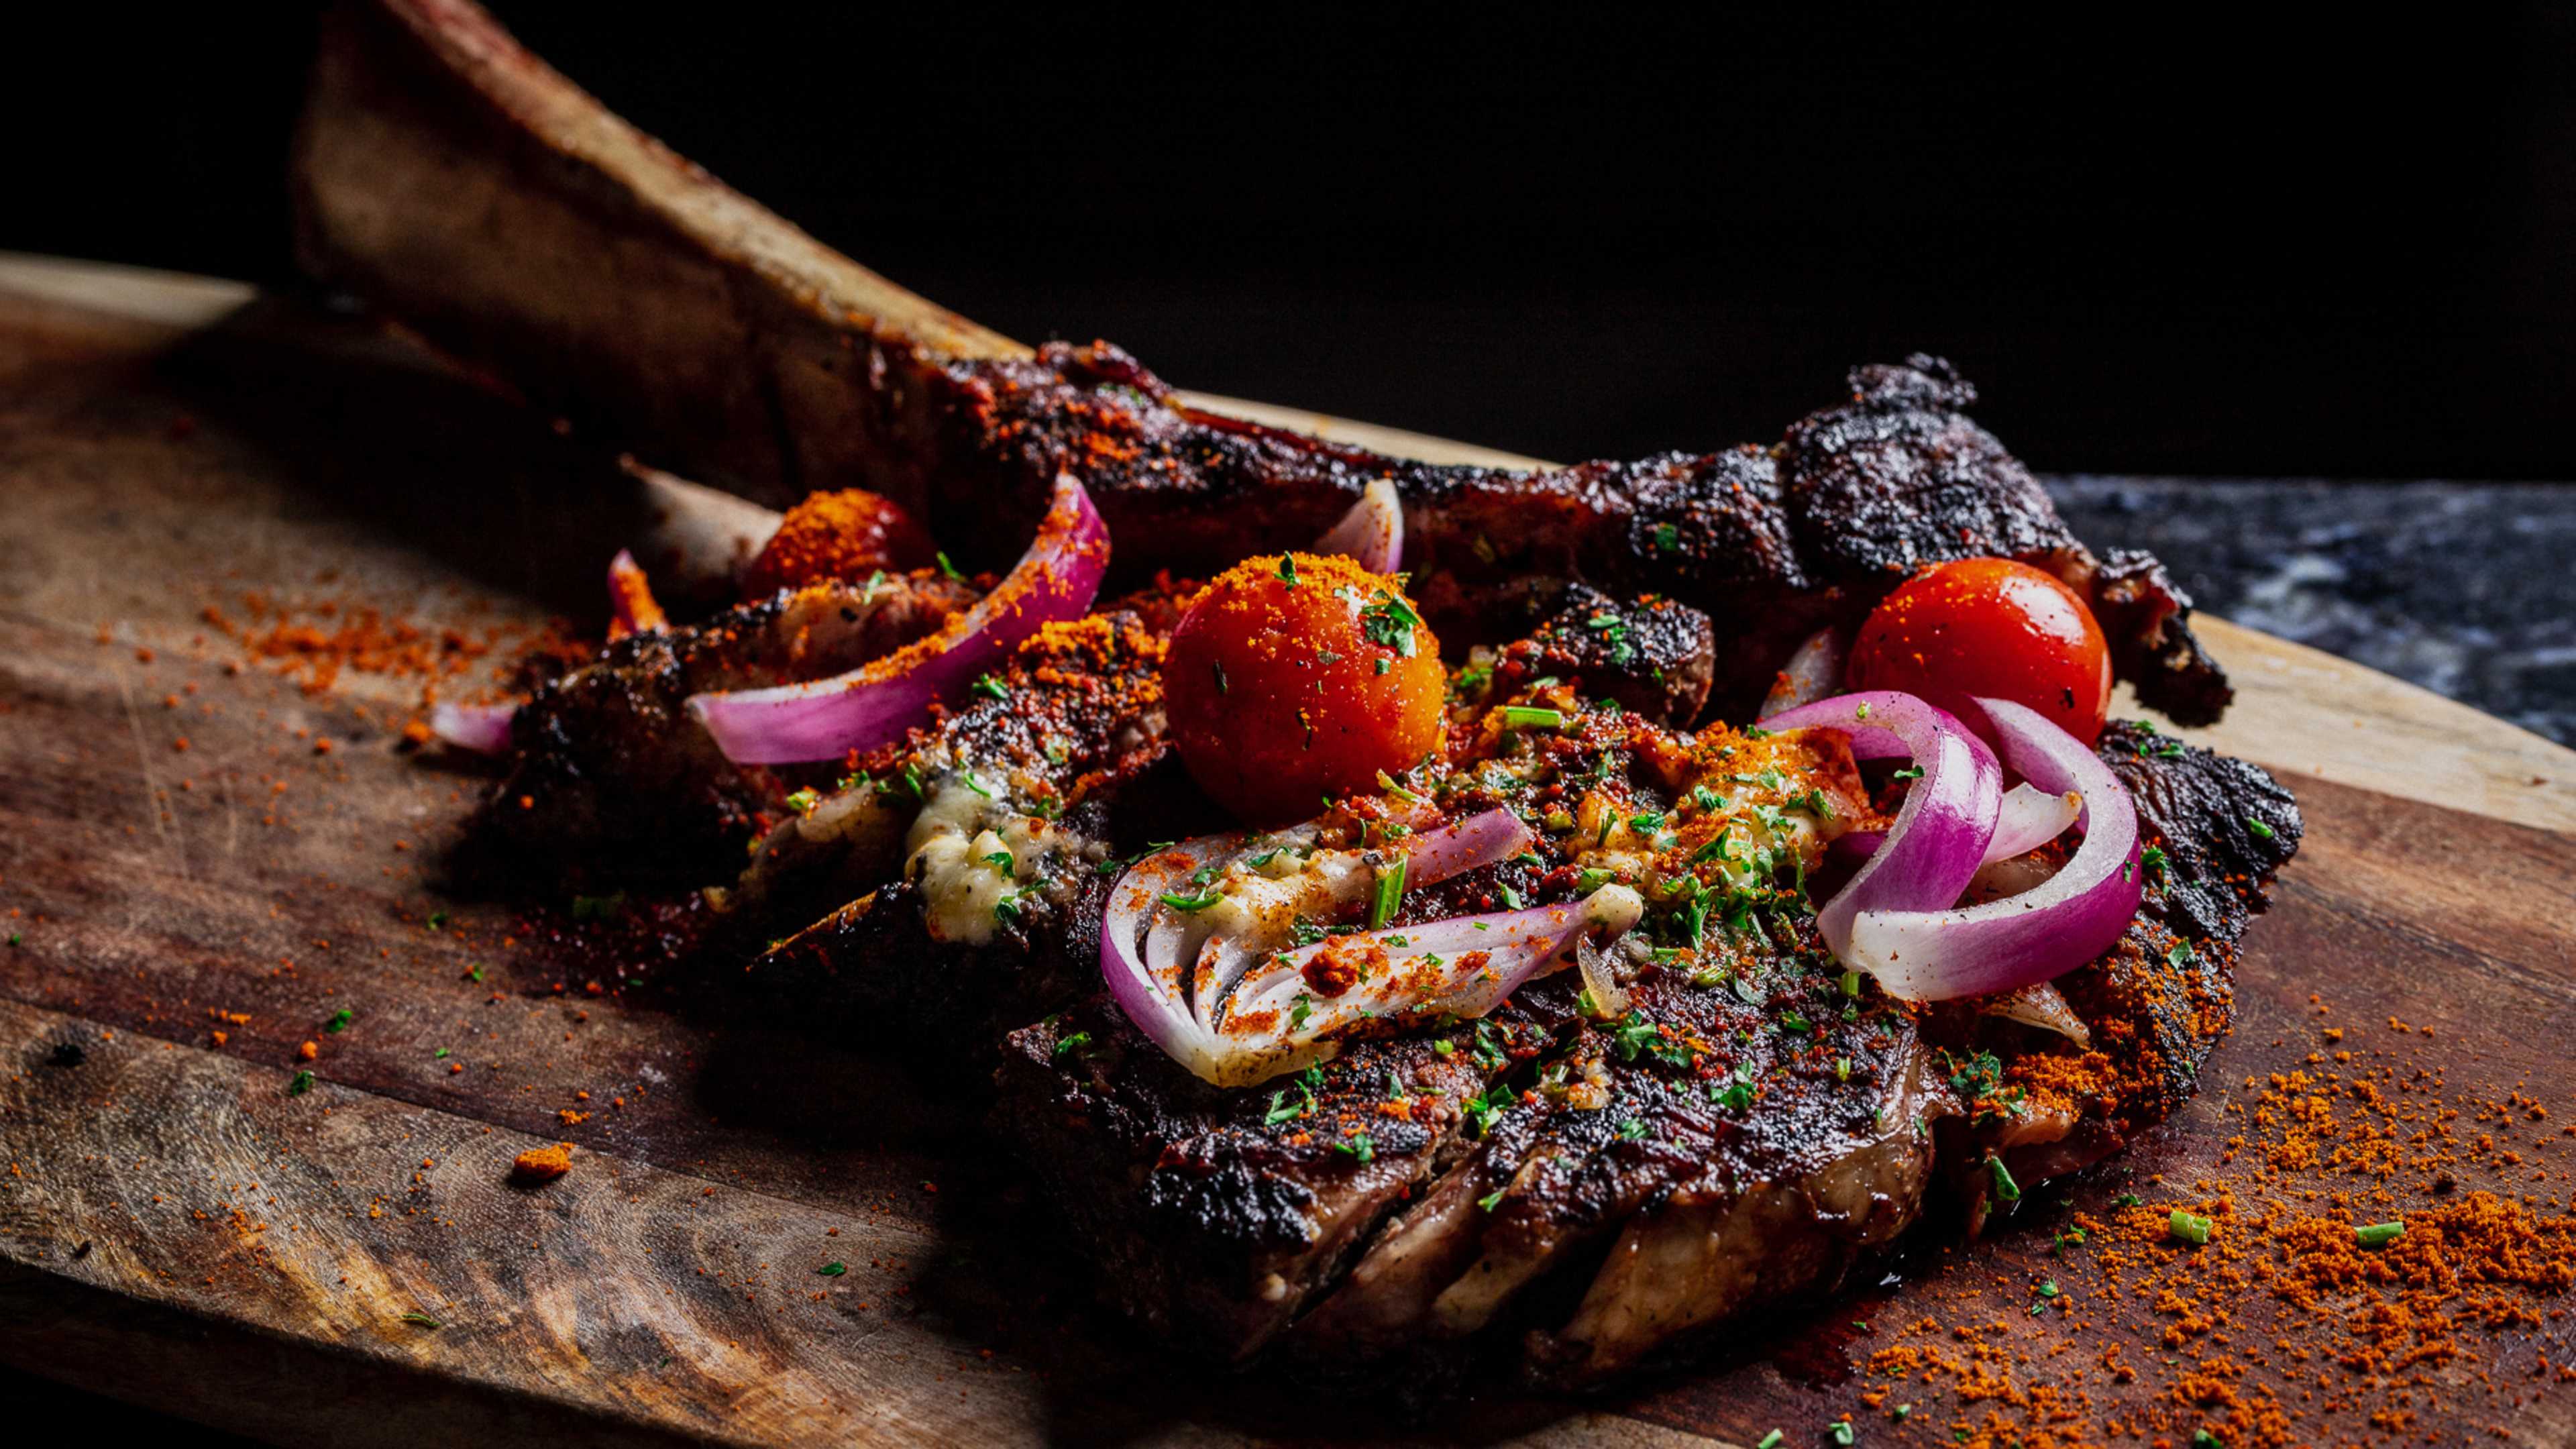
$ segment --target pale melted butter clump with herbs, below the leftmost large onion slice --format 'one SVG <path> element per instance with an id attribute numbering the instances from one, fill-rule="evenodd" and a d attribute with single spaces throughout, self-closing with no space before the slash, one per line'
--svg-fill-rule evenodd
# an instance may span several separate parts
<path id="1" fill-rule="evenodd" d="M 1005 913 L 1072 900 L 1072 866 L 1100 856 L 1074 830 L 1012 810 L 1007 786 L 963 771 L 930 786 L 904 851 L 930 936 L 969 946 L 992 941 Z"/>

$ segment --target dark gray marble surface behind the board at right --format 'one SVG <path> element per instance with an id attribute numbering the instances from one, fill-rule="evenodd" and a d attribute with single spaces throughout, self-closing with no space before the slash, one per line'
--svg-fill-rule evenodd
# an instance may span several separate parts
<path id="1" fill-rule="evenodd" d="M 2576 745 L 2576 485 L 2050 477 L 2210 614 Z"/>

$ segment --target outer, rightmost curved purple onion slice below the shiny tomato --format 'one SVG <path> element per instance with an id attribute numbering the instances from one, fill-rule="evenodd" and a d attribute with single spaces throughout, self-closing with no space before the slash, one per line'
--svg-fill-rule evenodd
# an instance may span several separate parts
<path id="1" fill-rule="evenodd" d="M 1904 1000 L 1991 995 L 2058 977 L 2107 951 L 2138 915 L 2138 810 L 2120 779 L 2040 712 L 2009 699 L 1978 704 L 2014 771 L 2040 789 L 2084 797 L 2084 843 L 2022 895 L 1955 910 L 1865 908 L 1834 954 Z M 1880 859 L 1891 851 L 1893 841 Z"/>

